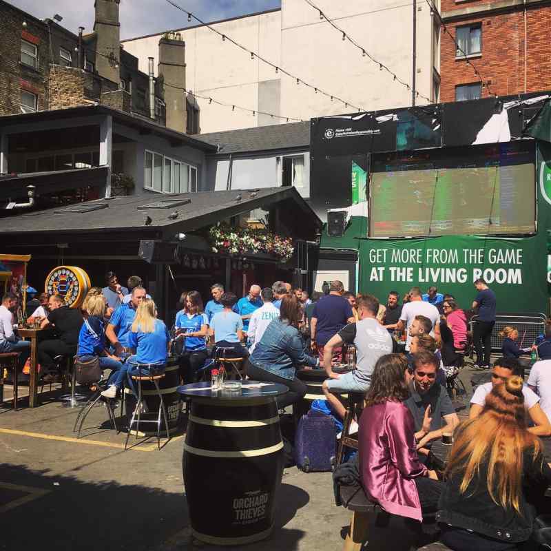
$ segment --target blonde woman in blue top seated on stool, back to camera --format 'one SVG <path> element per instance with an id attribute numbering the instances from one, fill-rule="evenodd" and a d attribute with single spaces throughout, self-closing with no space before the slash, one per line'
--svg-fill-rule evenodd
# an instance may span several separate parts
<path id="1" fill-rule="evenodd" d="M 141 367 L 142 375 L 162 373 L 167 363 L 170 348 L 170 335 L 163 320 L 157 317 L 155 303 L 150 298 L 144 298 L 136 309 L 136 318 L 130 328 L 128 337 L 129 348 L 133 355 L 126 360 L 129 365 L 128 380 L 136 394 L 136 388 L 131 375 L 138 374 L 137 364 L 148 364 Z"/>

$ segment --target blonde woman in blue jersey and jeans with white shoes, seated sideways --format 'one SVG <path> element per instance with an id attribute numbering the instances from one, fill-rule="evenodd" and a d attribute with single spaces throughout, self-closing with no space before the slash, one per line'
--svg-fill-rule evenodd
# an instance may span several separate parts
<path id="1" fill-rule="evenodd" d="M 103 318 L 107 311 L 107 304 L 103 295 L 86 296 L 84 302 L 86 317 L 79 333 L 79 346 L 76 355 L 83 362 L 97 356 L 100 367 L 111 370 L 110 386 L 101 394 L 107 398 L 114 398 L 124 386 L 127 370 L 120 359 L 108 353 L 105 347 Z"/>

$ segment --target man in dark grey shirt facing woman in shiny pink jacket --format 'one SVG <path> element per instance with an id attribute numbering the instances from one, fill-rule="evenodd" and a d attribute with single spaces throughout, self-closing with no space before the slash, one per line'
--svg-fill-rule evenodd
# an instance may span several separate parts
<path id="1" fill-rule="evenodd" d="M 413 355 L 409 368 L 413 380 L 409 384 L 410 397 L 404 404 L 413 415 L 417 452 L 421 460 L 428 455 L 431 441 L 441 438 L 442 433 L 453 432 L 459 424 L 446 388 L 436 382 L 439 366 L 440 362 L 433 353 L 422 351 Z M 430 420 L 428 431 L 424 428 L 427 420 Z"/>

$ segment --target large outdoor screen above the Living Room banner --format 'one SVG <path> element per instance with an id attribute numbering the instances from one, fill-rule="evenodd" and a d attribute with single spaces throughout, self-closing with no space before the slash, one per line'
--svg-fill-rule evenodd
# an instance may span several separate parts
<path id="1" fill-rule="evenodd" d="M 485 166 L 480 158 L 459 167 L 419 160 L 375 163 L 371 237 L 534 233 L 534 163 L 526 154 L 486 158 Z"/>

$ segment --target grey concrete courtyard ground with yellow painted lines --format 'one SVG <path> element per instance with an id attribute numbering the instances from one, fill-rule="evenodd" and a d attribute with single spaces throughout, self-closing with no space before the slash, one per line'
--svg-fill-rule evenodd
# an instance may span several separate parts
<path id="1" fill-rule="evenodd" d="M 470 368 L 461 373 L 469 392 L 471 374 Z M 5 390 L 10 397 L 10 387 Z M 38 408 L 21 402 L 15 413 L 11 403 L 0 406 L 0 550 L 215 549 L 189 534 L 182 481 L 185 418 L 160 451 L 156 439 L 136 444 L 134 437 L 124 451 L 126 435 L 110 427 L 103 406 L 92 410 L 77 439 L 72 426 L 78 410 L 56 401 L 61 391 L 47 391 Z M 20 395 L 25 392 L 20 387 Z M 330 472 L 289 468 L 272 536 L 233 549 L 335 551 L 349 521 L 349 512 L 335 506 Z M 367 549 L 408 548 L 408 530 L 395 528 L 373 527 Z"/>

